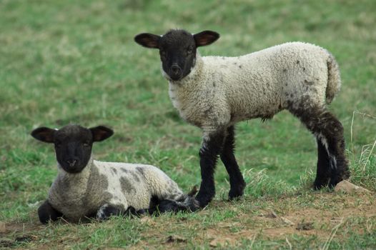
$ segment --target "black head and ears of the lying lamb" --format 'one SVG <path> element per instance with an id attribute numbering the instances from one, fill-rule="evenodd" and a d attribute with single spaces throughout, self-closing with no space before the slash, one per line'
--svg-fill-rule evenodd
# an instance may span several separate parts
<path id="1" fill-rule="evenodd" d="M 61 129 L 40 127 L 31 132 L 39 141 L 55 145 L 56 160 L 64 171 L 79 173 L 89 162 L 94 141 L 103 141 L 114 131 L 105 126 L 86 129 L 79 125 L 67 125 Z"/>

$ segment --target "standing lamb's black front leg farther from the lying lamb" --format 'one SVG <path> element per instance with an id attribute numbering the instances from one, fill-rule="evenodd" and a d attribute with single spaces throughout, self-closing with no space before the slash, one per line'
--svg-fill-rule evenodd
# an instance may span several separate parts
<path id="1" fill-rule="evenodd" d="M 245 182 L 242 173 L 239 170 L 237 160 L 234 156 L 235 139 L 234 139 L 234 126 L 229 126 L 227 128 L 227 136 L 224 139 L 224 145 L 221 154 L 221 161 L 226 167 L 227 173 L 229 174 L 229 199 L 234 199 L 236 197 L 242 196 Z"/>

